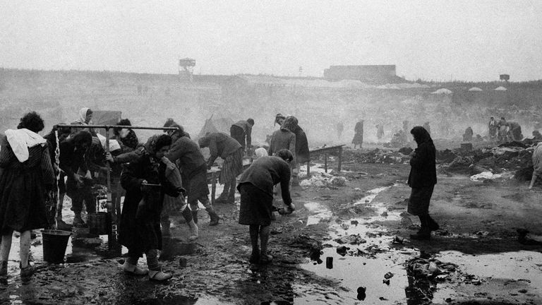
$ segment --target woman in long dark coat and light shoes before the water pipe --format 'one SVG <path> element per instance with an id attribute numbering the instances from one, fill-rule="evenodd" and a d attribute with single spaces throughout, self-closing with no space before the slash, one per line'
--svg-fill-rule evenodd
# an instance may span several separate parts
<path id="1" fill-rule="evenodd" d="M 185 191 L 175 187 L 166 177 L 167 165 L 162 158 L 169 150 L 171 137 L 155 135 L 145 143 L 143 154 L 133 160 L 121 175 L 121 184 L 126 189 L 126 200 L 122 208 L 119 243 L 128 248 L 124 272 L 147 275 L 150 280 L 169 280 L 172 275 L 162 272 L 158 263 L 158 250 L 162 249 L 160 214 L 164 193 L 178 197 Z M 140 256 L 145 253 L 148 270 L 138 267 Z"/>

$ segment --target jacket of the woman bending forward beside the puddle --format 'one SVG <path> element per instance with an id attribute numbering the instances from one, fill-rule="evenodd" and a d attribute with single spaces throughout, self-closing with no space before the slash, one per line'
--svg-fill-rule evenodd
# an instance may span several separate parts
<path id="1" fill-rule="evenodd" d="M 265 193 L 273 196 L 273 186 L 280 183 L 282 190 L 282 200 L 284 204 L 291 203 L 289 183 L 290 166 L 279 157 L 260 157 L 252 162 L 252 165 L 246 169 L 239 179 L 239 186 L 243 183 L 250 183 Z"/>

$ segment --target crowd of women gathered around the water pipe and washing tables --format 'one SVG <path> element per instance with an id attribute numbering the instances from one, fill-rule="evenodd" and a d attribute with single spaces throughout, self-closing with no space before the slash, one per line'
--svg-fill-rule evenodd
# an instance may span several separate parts
<path id="1" fill-rule="evenodd" d="M 210 216 L 209 225 L 219 224 L 220 217 L 210 203 L 207 186 L 207 169 L 217 157 L 224 160 L 219 177 L 224 191 L 218 202 L 233 203 L 235 191 L 239 190 L 239 223 L 249 225 L 253 244 L 250 261 L 272 260 L 267 253 L 267 240 L 275 210 L 274 187 L 282 186 L 280 193 L 287 205 L 282 212 L 291 213 L 294 205 L 289 186 L 294 156 L 299 162 L 308 160 L 306 136 L 294 116 L 277 115 L 275 121 L 281 127 L 273 133 L 269 150 L 244 172 L 243 155 L 251 148 L 253 119 L 232 125 L 230 135 L 207 133 L 198 143 L 181 125 L 168 119 L 164 124 L 167 132 L 150 137 L 144 144 L 129 127 L 131 122 L 122 119 L 119 128 L 114 128 L 106 153 L 105 137 L 92 128 L 92 110 L 83 108 L 79 116 L 71 125 L 80 127 L 55 126 L 42 137 L 38 133 L 44 128 L 44 121 L 40 114 L 30 112 L 20 119 L 17 129 L 6 131 L 0 139 L 0 277 L 7 276 L 13 231 L 21 233 L 21 277 L 30 277 L 34 272 L 28 263 L 30 232 L 71 228 L 62 220 L 65 195 L 71 198 L 72 225 L 85 226 L 81 217 L 83 204 L 87 213 L 95 213 L 94 186 L 102 183 L 110 170 L 114 205 L 120 206 L 120 199 L 125 196 L 121 215 L 116 215 L 120 217 L 119 243 L 128 249 L 123 270 L 148 275 L 151 280 L 168 280 L 171 274 L 162 271 L 157 254 L 162 249 L 162 237 L 169 234 L 169 213 L 181 213 L 190 227 L 191 240 L 198 238 L 199 204 Z M 209 148 L 208 160 L 201 148 Z M 138 266 L 143 254 L 148 269 Z"/>

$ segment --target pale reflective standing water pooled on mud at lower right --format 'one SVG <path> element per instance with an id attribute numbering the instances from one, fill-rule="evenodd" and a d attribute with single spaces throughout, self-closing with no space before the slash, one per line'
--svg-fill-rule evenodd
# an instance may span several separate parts
<path id="1" fill-rule="evenodd" d="M 304 289 L 303 285 L 296 286 L 296 292 L 301 297 L 296 298 L 296 304 L 438 304 L 448 299 L 461 297 L 456 286 L 448 282 L 432 283 L 428 287 L 414 282 L 406 272 L 404 263 L 420 256 L 418 249 L 408 246 L 392 245 L 395 237 L 379 225 L 386 220 L 401 220 L 399 215 L 403 210 L 387 210 L 384 203 L 375 201 L 378 194 L 393 186 L 380 187 L 367 192 L 354 205 L 363 205 L 372 210 L 372 215 L 352 218 L 347 222 L 337 224 L 330 222 L 332 213 L 325 205 L 306 203 L 310 211 L 307 225 L 320 221 L 330 223 L 330 240 L 325 241 L 322 256 L 318 261 L 309 261 L 301 268 L 312 271 L 316 275 L 331 277 L 341 282 L 345 290 L 335 294 L 323 293 L 318 289 Z M 357 239 L 361 244 L 339 243 L 337 239 Z M 447 237 L 441 237 L 447 238 Z M 449 238 L 453 238 L 450 236 Z M 346 253 L 338 253 L 339 247 L 346 246 Z M 495 280 L 496 282 L 522 282 L 526 291 L 531 295 L 542 293 L 542 253 L 519 251 L 514 253 L 495 253 L 472 256 L 458 251 L 445 251 L 435 257 L 442 262 L 454 263 L 464 274 L 475 275 L 476 278 Z M 332 264 L 329 264 L 329 261 Z M 386 273 L 392 273 L 389 284 L 385 281 Z M 483 282 L 484 280 L 482 280 Z M 365 288 L 365 294 L 359 295 L 358 289 Z M 424 289 L 430 289 L 424 294 Z M 522 290 L 522 291 L 525 291 Z M 507 295 L 507 293 L 505 293 Z M 513 292 L 510 292 L 514 296 Z M 516 294 L 517 295 L 517 294 Z M 363 300 L 361 297 L 365 297 Z M 497 295 L 498 297 L 498 295 Z M 506 297 L 506 296 L 505 296 Z M 356 303 L 359 302 L 359 303 Z"/>

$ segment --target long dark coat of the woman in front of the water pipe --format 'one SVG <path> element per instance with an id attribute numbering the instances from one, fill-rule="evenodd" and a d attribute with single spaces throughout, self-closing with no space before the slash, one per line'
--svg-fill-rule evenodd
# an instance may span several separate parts
<path id="1" fill-rule="evenodd" d="M 122 171 L 121 185 L 126 189 L 126 199 L 121 214 L 119 243 L 135 253 L 162 249 L 160 213 L 164 193 L 172 197 L 179 196 L 179 190 L 165 177 L 165 169 L 163 162 L 153 163 L 150 156 L 143 153 Z M 143 180 L 160 186 L 149 186 L 147 192 L 143 193 Z M 138 213 L 138 205 L 143 198 L 145 204 Z"/>

